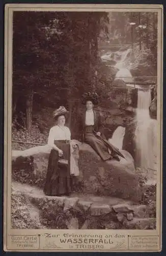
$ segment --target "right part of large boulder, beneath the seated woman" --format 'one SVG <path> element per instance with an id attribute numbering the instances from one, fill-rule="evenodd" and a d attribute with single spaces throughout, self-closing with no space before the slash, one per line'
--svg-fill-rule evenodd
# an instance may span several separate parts
<path id="1" fill-rule="evenodd" d="M 139 180 L 134 161 L 127 151 L 126 159 L 102 161 L 88 144 L 80 147 L 80 179 L 84 191 L 90 194 L 116 196 L 133 201 L 140 199 Z"/>

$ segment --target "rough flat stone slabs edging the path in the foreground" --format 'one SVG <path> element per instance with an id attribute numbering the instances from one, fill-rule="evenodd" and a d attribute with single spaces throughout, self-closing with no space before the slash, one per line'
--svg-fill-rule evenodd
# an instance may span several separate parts
<path id="1" fill-rule="evenodd" d="M 45 196 L 41 189 L 18 182 L 12 183 L 12 194 L 28 198 L 38 208 L 40 216 L 47 220 L 48 225 L 52 225 L 49 224 L 52 223 L 50 219 L 54 223 L 61 219 L 69 229 L 118 229 L 119 225 L 131 229 L 155 227 L 156 220 L 150 218 L 149 207 L 134 204 L 132 201 L 92 195 L 50 197 Z"/>

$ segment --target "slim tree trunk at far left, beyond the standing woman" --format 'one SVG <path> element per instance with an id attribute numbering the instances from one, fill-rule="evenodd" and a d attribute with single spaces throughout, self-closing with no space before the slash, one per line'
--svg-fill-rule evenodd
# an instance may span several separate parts
<path id="1" fill-rule="evenodd" d="M 32 109 L 33 109 L 33 90 L 29 91 L 26 97 L 26 129 L 31 136 L 32 134 Z"/>

